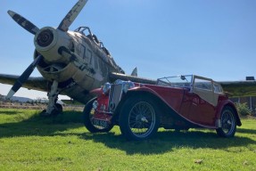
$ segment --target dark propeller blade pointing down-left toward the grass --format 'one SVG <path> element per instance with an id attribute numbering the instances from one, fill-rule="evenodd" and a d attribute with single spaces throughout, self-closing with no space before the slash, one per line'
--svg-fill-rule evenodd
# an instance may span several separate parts
<path id="1" fill-rule="evenodd" d="M 37 58 L 29 65 L 29 67 L 21 74 L 21 77 L 17 79 L 17 81 L 12 85 L 12 89 L 6 95 L 6 99 L 10 99 L 13 94 L 15 94 L 20 88 L 23 83 L 27 81 L 33 70 L 36 68 L 38 62 L 43 58 L 40 54 Z"/>

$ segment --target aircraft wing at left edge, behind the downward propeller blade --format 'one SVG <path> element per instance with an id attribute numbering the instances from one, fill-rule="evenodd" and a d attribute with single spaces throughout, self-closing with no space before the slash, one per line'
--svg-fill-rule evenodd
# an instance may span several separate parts
<path id="1" fill-rule="evenodd" d="M 0 83 L 13 85 L 20 76 L 0 74 Z M 22 87 L 47 92 L 47 80 L 44 77 L 29 77 Z"/>

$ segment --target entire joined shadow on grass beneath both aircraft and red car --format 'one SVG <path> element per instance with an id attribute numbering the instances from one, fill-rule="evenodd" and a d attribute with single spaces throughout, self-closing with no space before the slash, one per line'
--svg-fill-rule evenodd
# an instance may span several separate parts
<path id="1" fill-rule="evenodd" d="M 0 124 L 0 138 L 17 136 L 69 136 L 74 135 L 82 140 L 101 142 L 106 147 L 125 151 L 128 155 L 134 154 L 161 154 L 177 149 L 220 149 L 227 151 L 230 147 L 235 147 L 239 152 L 248 145 L 255 144 L 256 141 L 249 137 L 235 136 L 234 138 L 219 138 L 215 131 L 194 130 L 188 132 L 160 131 L 152 139 L 143 142 L 128 142 L 120 133 L 110 132 L 107 134 L 73 133 L 66 132 L 68 129 L 78 128 L 82 124 L 82 112 L 64 111 L 62 115 L 54 118 L 42 118 L 39 113 L 30 113 L 27 118 L 26 112 L 13 111 L 7 115 L 13 115 L 11 123 Z M 16 115 L 15 115 L 16 114 Z M 117 131 L 118 127 L 114 130 Z M 255 134 L 255 130 L 238 128 L 238 133 Z"/>

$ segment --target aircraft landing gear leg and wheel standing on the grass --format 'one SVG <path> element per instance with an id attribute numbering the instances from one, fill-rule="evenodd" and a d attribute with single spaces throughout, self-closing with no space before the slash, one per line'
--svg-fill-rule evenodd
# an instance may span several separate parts
<path id="1" fill-rule="evenodd" d="M 42 116 L 55 116 L 62 113 L 62 104 L 57 103 L 58 94 L 58 82 L 54 80 L 54 83 L 51 86 L 51 91 L 48 94 L 49 102 L 47 110 L 41 112 Z"/>

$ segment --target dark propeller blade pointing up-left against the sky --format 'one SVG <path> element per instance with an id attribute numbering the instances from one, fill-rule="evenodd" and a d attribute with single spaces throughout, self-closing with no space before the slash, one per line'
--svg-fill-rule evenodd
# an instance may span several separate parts
<path id="1" fill-rule="evenodd" d="M 16 12 L 12 12 L 11 10 L 8 11 L 8 14 L 15 20 L 22 28 L 25 28 L 27 31 L 36 35 L 39 28 L 35 26 L 32 22 L 22 17 L 20 14 Z"/>

